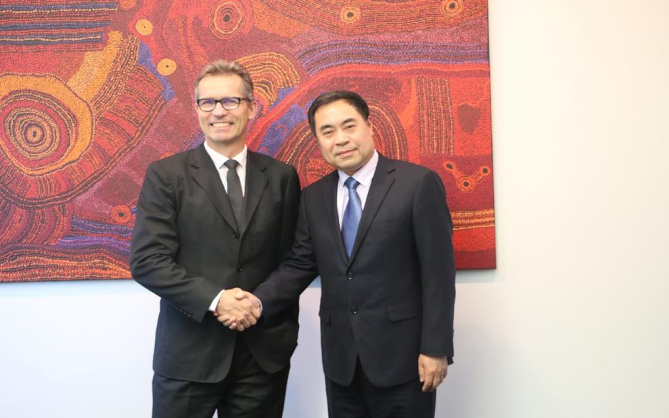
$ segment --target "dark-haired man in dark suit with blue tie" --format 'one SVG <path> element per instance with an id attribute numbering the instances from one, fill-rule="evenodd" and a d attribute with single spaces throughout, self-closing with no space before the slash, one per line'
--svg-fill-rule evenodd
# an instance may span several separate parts
<path id="1" fill-rule="evenodd" d="M 356 93 L 323 93 L 308 116 L 337 170 L 302 191 L 291 254 L 253 291 L 262 318 L 281 316 L 320 274 L 330 417 L 433 417 L 433 391 L 453 355 L 455 267 L 443 183 L 434 171 L 376 152 L 369 108 Z M 238 326 L 233 314 L 219 320 Z"/>

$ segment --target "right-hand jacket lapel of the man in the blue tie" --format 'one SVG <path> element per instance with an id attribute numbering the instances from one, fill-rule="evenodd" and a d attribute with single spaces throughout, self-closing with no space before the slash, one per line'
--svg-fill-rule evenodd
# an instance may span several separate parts
<path id="1" fill-rule="evenodd" d="M 369 231 L 371 222 L 374 220 L 374 217 L 376 217 L 376 213 L 381 207 L 383 199 L 385 199 L 390 186 L 395 181 L 395 178 L 392 175 L 394 170 L 392 161 L 383 157 L 383 155 L 379 153 L 378 164 L 376 164 L 374 177 L 371 179 L 367 201 L 365 201 L 364 209 L 362 210 L 360 226 L 357 227 L 357 234 L 355 235 L 355 242 L 353 243 L 353 251 L 351 251 L 351 259 L 349 260 L 349 263 L 352 263 L 355 259 L 357 251 L 360 249 L 362 241 L 364 240 L 365 235 L 367 235 L 367 231 Z"/>

